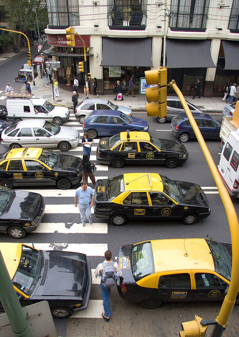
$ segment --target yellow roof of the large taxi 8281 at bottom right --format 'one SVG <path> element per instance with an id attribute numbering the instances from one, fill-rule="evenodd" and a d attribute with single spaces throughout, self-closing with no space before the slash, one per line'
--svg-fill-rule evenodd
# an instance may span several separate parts
<path id="1" fill-rule="evenodd" d="M 152 240 L 151 244 L 156 273 L 184 269 L 215 270 L 205 239 Z"/>

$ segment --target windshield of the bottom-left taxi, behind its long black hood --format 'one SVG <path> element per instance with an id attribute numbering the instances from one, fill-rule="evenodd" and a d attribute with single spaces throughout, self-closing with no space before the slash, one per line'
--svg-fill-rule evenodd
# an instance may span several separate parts
<path id="1" fill-rule="evenodd" d="M 34 284 L 37 281 L 39 270 L 41 268 L 41 255 L 37 250 L 22 246 L 21 259 L 12 283 L 22 293 L 29 296 Z"/>

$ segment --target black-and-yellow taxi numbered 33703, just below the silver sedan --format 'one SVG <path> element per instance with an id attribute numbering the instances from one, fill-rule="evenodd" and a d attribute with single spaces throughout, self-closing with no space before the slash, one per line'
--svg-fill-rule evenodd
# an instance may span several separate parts
<path id="1" fill-rule="evenodd" d="M 57 185 L 69 189 L 82 179 L 81 159 L 42 148 L 11 149 L 0 154 L 0 185 Z"/>

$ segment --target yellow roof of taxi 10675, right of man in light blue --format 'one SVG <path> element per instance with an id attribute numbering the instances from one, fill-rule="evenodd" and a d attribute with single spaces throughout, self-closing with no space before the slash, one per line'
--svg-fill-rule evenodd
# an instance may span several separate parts
<path id="1" fill-rule="evenodd" d="M 163 183 L 158 173 L 125 173 L 125 191 L 162 191 Z"/>

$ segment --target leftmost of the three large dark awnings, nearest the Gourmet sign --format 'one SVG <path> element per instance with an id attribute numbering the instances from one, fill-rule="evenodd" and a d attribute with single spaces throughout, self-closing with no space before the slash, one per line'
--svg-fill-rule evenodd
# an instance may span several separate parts
<path id="1" fill-rule="evenodd" d="M 101 66 L 152 67 L 152 38 L 103 37 Z"/>

